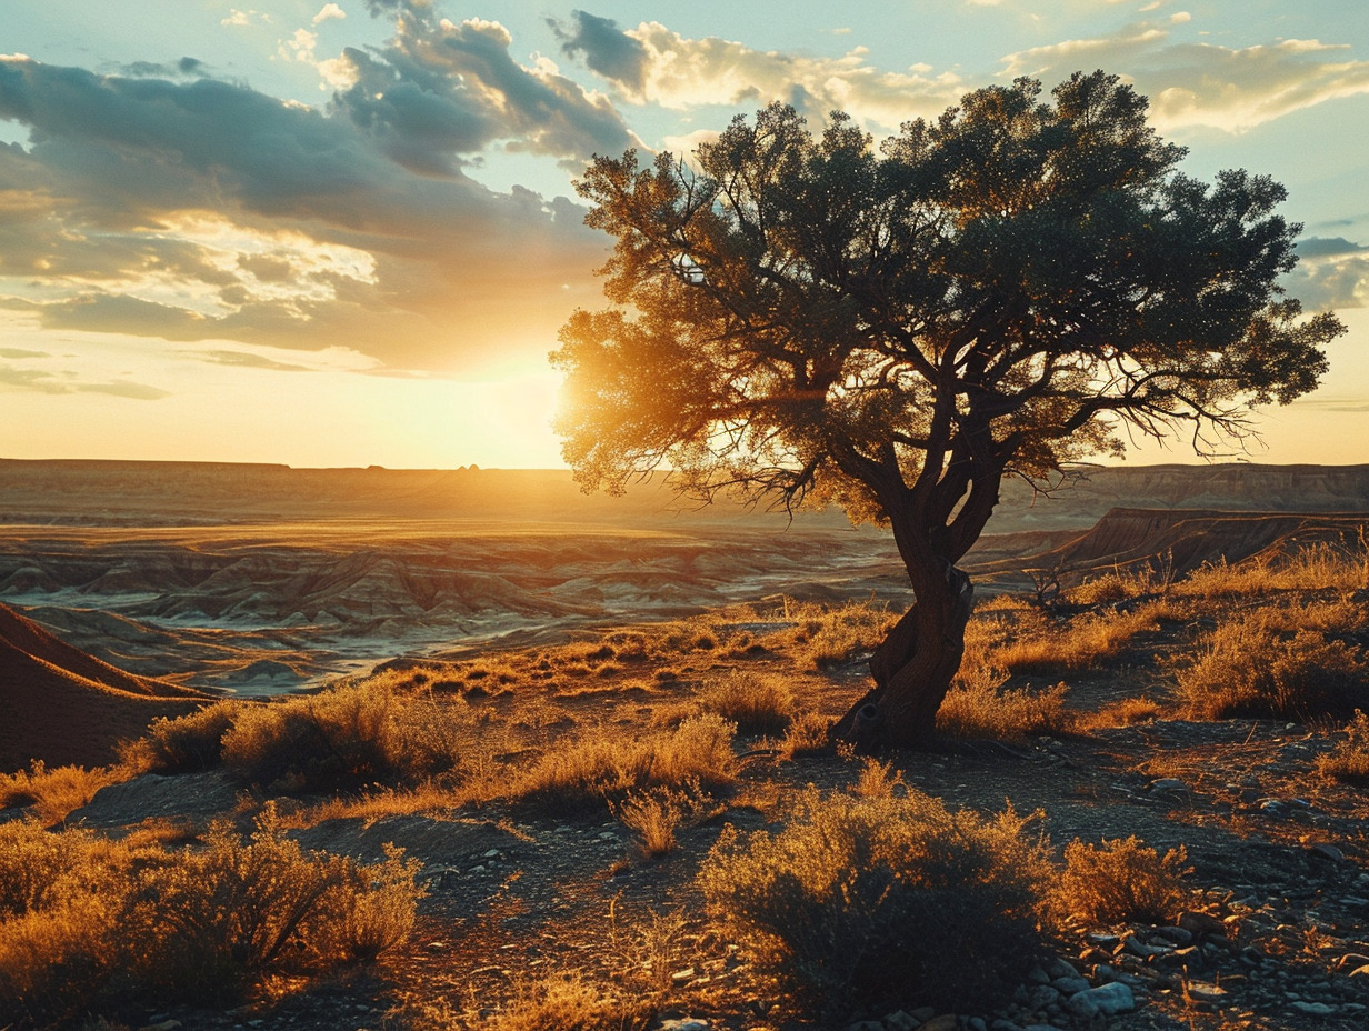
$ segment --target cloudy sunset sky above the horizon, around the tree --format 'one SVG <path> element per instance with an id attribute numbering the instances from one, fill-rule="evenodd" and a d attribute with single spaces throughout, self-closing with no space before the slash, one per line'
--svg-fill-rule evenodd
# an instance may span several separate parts
<path id="1" fill-rule="evenodd" d="M 593 155 L 1103 68 L 1187 173 L 1284 183 L 1350 327 L 1246 457 L 1369 461 L 1364 0 L 579 1 L 0 0 L 0 457 L 559 466 Z"/>

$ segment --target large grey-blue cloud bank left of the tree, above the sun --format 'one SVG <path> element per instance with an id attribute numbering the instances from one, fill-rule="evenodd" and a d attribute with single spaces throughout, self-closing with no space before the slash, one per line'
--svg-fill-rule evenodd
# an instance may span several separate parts
<path id="1" fill-rule="evenodd" d="M 30 140 L 0 145 L 0 305 L 442 374 L 545 355 L 594 303 L 606 244 L 570 200 L 490 190 L 461 160 L 505 137 L 567 159 L 632 137 L 606 101 L 512 62 L 498 26 L 404 31 L 366 55 L 394 94 L 327 110 L 0 59 L 0 118 Z"/>

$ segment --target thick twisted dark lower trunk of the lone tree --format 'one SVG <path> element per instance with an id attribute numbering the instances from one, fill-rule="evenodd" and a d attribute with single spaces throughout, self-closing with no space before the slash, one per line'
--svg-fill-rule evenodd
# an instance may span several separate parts
<path id="1" fill-rule="evenodd" d="M 949 563 L 942 575 L 919 581 L 917 601 L 871 656 L 875 687 L 836 723 L 834 741 L 860 752 L 925 748 L 935 741 L 936 709 L 965 653 L 973 587 Z"/>

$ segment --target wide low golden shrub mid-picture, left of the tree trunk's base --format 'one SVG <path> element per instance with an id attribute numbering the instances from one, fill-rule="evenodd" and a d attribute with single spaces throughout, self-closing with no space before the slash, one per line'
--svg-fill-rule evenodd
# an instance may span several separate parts
<path id="1" fill-rule="evenodd" d="M 557 809 L 587 809 L 653 787 L 727 787 L 735 733 L 735 724 L 712 712 L 674 730 L 626 739 L 612 727 L 596 727 L 543 754 L 501 794 Z"/>

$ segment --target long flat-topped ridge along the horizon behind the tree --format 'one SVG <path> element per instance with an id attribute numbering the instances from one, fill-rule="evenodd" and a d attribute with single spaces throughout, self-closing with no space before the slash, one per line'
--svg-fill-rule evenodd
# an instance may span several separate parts
<path id="1" fill-rule="evenodd" d="M 1050 496 L 1006 481 L 990 534 L 1084 529 L 1113 508 L 1366 512 L 1369 466 L 1077 466 Z M 292 468 L 278 464 L 0 459 L 0 523 L 208 526 L 290 519 L 789 524 L 735 501 L 700 507 L 665 475 L 626 497 L 583 494 L 568 470 Z M 845 527 L 835 508 L 805 526 Z"/>

